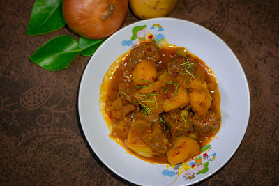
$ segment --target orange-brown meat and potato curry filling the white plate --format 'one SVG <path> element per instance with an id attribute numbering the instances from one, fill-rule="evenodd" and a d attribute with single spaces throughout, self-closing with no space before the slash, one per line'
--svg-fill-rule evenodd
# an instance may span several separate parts
<path id="1" fill-rule="evenodd" d="M 119 57 L 100 89 L 110 137 L 151 163 L 179 164 L 220 129 L 220 93 L 212 70 L 183 47 L 140 43 Z"/>

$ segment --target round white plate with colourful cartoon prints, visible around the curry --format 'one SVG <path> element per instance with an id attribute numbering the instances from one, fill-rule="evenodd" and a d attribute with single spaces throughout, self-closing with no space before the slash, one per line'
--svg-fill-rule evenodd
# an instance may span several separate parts
<path id="1" fill-rule="evenodd" d="M 135 26 L 137 29 L 133 30 Z M 133 40 L 133 36 L 137 36 L 134 37 L 137 39 Z M 174 167 L 150 164 L 126 153 L 124 148 L 110 139 L 107 124 L 100 112 L 99 92 L 105 72 L 121 54 L 137 45 L 138 38 L 146 36 L 155 40 L 165 38 L 173 45 L 186 47 L 215 72 L 219 84 L 220 131 L 195 160 Z M 204 27 L 186 20 L 156 18 L 130 24 L 105 40 L 84 70 L 78 107 L 87 141 L 114 173 L 138 185 L 190 185 L 211 176 L 234 155 L 248 125 L 250 94 L 241 64 L 223 40 Z"/>

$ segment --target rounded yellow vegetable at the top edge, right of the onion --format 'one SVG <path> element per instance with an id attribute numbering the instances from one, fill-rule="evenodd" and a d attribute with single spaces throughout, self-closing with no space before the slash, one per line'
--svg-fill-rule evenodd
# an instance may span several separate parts
<path id="1" fill-rule="evenodd" d="M 133 13 L 141 19 L 165 17 L 172 12 L 177 0 L 129 0 Z"/>

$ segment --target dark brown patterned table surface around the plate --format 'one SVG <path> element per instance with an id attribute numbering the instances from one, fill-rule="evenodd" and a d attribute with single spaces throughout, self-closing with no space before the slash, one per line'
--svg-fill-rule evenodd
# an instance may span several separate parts
<path id="1" fill-rule="evenodd" d="M 27 36 L 33 2 L 0 2 L 0 185 L 133 185 L 100 162 L 84 138 L 77 95 L 90 57 L 77 56 L 57 72 L 29 61 L 50 38 L 77 38 L 68 27 Z M 250 121 L 241 146 L 199 184 L 278 185 L 279 1 L 181 0 L 168 17 L 195 22 L 222 38 L 250 88 Z M 129 11 L 123 26 L 138 20 Z"/>

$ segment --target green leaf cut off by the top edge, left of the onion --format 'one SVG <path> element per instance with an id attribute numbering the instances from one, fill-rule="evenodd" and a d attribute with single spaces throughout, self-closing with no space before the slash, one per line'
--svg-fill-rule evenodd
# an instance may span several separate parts
<path id="1" fill-rule="evenodd" d="M 65 26 L 62 2 L 62 0 L 36 0 L 27 26 L 27 34 L 41 35 Z"/>

